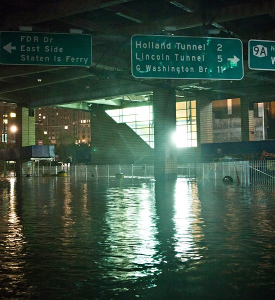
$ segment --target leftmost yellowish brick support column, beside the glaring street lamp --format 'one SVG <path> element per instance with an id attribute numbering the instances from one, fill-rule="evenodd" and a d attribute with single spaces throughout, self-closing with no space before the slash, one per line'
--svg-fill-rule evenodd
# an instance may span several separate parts
<path id="1" fill-rule="evenodd" d="M 24 147 L 35 144 L 35 114 L 33 109 L 17 106 L 16 112 L 16 133 L 15 146 Z M 20 160 L 15 161 L 15 175 L 21 176 Z"/>

